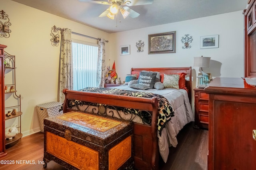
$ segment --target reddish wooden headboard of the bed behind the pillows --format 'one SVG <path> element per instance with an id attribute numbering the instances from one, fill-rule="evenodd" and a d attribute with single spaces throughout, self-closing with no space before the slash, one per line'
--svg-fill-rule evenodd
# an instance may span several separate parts
<path id="1" fill-rule="evenodd" d="M 166 68 L 131 68 L 132 71 L 140 72 L 142 70 L 147 71 L 158 71 L 160 73 L 171 74 L 171 73 L 186 73 L 186 88 L 188 88 L 188 98 L 191 103 L 192 96 L 192 67 L 166 67 Z"/>

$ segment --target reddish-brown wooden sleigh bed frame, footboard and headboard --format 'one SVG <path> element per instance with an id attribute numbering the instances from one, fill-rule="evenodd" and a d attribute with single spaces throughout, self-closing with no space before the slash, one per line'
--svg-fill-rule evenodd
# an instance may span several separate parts
<path id="1" fill-rule="evenodd" d="M 188 88 L 188 97 L 191 102 L 192 91 L 192 72 L 191 67 L 174 67 L 174 68 L 132 68 L 132 71 L 158 71 L 160 73 L 171 74 L 185 72 L 189 77 L 186 80 Z M 63 112 L 74 111 L 68 106 L 68 100 L 80 100 L 92 103 L 106 104 L 116 107 L 134 108 L 152 112 L 151 125 L 142 125 L 134 123 L 134 164 L 136 169 L 158 170 L 158 137 L 157 137 L 157 117 L 158 101 L 156 98 L 138 98 L 132 96 L 119 96 L 114 94 L 99 94 L 91 92 L 80 92 L 74 90 L 63 90 L 65 101 Z"/>

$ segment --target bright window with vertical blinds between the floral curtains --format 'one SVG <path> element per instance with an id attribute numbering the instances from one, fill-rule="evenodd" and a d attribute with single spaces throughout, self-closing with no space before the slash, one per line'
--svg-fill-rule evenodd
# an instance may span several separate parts
<path id="1" fill-rule="evenodd" d="M 98 61 L 97 44 L 86 45 L 81 42 L 72 42 L 72 56 L 73 90 L 96 87 Z"/>

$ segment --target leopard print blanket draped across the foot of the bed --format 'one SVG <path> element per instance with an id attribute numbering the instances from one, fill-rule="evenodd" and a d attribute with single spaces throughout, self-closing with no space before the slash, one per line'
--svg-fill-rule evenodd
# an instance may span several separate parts
<path id="1" fill-rule="evenodd" d="M 174 111 L 172 109 L 172 106 L 168 102 L 168 100 L 164 96 L 161 96 L 159 94 L 154 94 L 150 92 L 122 90 L 117 88 L 93 88 L 93 87 L 84 88 L 79 91 L 104 93 L 104 94 L 116 94 L 116 95 L 134 96 L 134 97 L 142 97 L 142 98 L 156 97 L 158 99 L 157 128 L 160 135 L 161 135 L 162 129 L 165 127 L 165 124 L 171 120 L 171 117 L 174 116 Z"/>

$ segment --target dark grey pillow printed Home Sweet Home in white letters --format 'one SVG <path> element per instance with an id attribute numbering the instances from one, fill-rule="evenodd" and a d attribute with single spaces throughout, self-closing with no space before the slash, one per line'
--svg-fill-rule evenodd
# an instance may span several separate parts
<path id="1" fill-rule="evenodd" d="M 156 72 L 140 72 L 138 84 L 143 84 L 149 88 L 154 88 Z"/>

